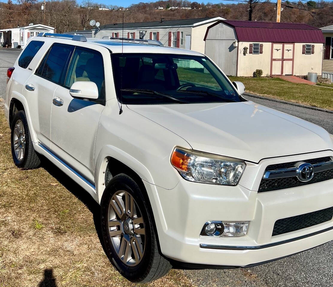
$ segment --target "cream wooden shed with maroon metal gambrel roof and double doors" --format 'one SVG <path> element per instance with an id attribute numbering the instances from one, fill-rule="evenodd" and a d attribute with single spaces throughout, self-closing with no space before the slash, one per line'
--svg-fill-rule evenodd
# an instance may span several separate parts
<path id="1" fill-rule="evenodd" d="M 204 40 L 205 54 L 227 75 L 321 75 L 325 40 L 306 24 L 221 20 Z"/>

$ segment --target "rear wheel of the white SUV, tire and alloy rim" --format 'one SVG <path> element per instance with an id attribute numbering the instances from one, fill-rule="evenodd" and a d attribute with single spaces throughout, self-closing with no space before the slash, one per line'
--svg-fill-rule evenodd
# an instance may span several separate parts
<path id="1" fill-rule="evenodd" d="M 15 113 L 11 129 L 10 139 L 15 165 L 24 169 L 37 168 L 41 162 L 33 147 L 27 117 L 23 110 Z"/>

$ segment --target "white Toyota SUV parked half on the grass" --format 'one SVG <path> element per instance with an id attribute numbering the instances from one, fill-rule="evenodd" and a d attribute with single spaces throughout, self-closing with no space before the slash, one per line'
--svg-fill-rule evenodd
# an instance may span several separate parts
<path id="1" fill-rule="evenodd" d="M 126 278 L 249 267 L 333 239 L 324 129 L 247 101 L 194 51 L 39 36 L 8 69 L 14 162 L 43 155 L 91 194 Z"/>

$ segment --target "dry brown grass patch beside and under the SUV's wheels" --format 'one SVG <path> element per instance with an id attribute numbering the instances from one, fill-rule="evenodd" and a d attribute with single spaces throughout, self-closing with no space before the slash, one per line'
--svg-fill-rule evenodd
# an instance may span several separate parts
<path id="1" fill-rule="evenodd" d="M 135 286 L 107 259 L 99 207 L 48 161 L 13 164 L 0 108 L 0 286 Z M 146 286 L 146 285 L 141 285 Z M 192 286 L 179 270 L 147 286 Z"/>

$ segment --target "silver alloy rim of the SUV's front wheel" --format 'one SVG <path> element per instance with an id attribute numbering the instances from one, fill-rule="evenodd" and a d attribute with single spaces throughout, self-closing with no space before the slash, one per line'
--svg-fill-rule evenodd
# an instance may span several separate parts
<path id="1" fill-rule="evenodd" d="M 118 257 L 128 266 L 139 264 L 145 253 L 146 229 L 140 208 L 127 191 L 112 196 L 108 227 Z"/>

